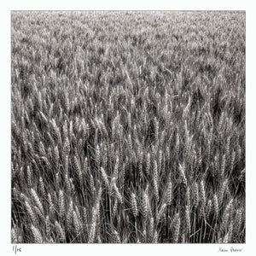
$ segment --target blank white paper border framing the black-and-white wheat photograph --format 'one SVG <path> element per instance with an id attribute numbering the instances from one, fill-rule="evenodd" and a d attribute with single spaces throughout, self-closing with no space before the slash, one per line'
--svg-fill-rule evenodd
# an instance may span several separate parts
<path id="1" fill-rule="evenodd" d="M 242 253 L 236 255 L 253 255 L 255 243 L 255 9 L 253 1 L 9 1 L 1 3 L 1 247 L 2 255 L 15 255 L 10 243 L 10 11 L 19 9 L 36 10 L 246 10 L 247 21 L 247 79 L 246 79 L 246 244 L 236 244 L 241 247 Z M 219 247 L 230 249 L 232 245 L 218 244 L 157 244 L 157 245 L 20 245 L 23 255 L 174 255 L 179 253 L 195 255 L 222 255 Z M 224 253 L 225 255 L 227 253 Z M 17 254 L 18 255 L 18 254 Z"/>

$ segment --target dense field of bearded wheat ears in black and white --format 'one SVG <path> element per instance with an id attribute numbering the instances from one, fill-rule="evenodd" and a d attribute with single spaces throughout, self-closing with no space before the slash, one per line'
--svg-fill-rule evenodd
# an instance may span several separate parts
<path id="1" fill-rule="evenodd" d="M 12 12 L 12 242 L 245 242 L 245 12 Z"/>

